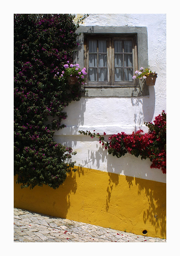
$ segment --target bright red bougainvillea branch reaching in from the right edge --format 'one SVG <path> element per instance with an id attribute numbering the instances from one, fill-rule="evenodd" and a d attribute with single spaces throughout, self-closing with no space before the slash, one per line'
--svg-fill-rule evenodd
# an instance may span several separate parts
<path id="1" fill-rule="evenodd" d="M 145 122 L 149 128 L 149 132 L 142 134 L 143 130 L 126 134 L 124 132 L 113 134 L 106 141 L 104 136 L 99 133 L 90 131 L 79 131 L 84 135 L 89 135 L 91 138 L 97 137 L 99 143 L 108 149 L 108 153 L 120 158 L 126 153 L 130 153 L 136 157 L 139 155 L 141 159 L 149 158 L 152 162 L 151 168 L 158 168 L 166 173 L 166 113 L 163 112 L 155 117 L 154 124 Z M 94 130 L 95 131 L 95 130 Z"/>

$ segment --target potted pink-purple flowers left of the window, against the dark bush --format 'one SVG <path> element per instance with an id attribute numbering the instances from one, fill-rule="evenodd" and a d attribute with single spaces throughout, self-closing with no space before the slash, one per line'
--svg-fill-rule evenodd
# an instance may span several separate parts
<path id="1" fill-rule="evenodd" d="M 85 85 L 86 68 L 82 68 L 79 64 L 67 64 L 64 65 L 64 69 L 59 79 L 67 80 L 68 84 L 82 84 Z"/>

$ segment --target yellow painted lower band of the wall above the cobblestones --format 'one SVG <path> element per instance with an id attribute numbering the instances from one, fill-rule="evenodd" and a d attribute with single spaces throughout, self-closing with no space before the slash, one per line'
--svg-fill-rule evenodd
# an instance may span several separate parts
<path id="1" fill-rule="evenodd" d="M 21 189 L 14 182 L 14 207 L 139 235 L 147 230 L 147 236 L 166 238 L 165 183 L 77 168 L 56 190 Z"/>

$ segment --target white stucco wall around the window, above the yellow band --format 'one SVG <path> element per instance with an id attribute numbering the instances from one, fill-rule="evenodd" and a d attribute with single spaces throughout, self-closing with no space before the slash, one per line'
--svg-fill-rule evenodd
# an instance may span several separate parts
<path id="1" fill-rule="evenodd" d="M 77 17 L 79 14 L 77 14 Z M 85 26 L 146 26 L 148 33 L 148 62 L 158 73 L 155 86 L 149 86 L 148 97 L 82 97 L 64 110 L 66 128 L 56 131 L 55 140 L 71 146 L 77 154 L 76 165 L 122 175 L 166 182 L 166 175 L 151 169 L 151 162 L 127 154 L 117 159 L 99 147 L 98 141 L 78 133 L 96 130 L 107 133 L 139 129 L 147 132 L 144 122 L 151 122 L 162 110 L 166 111 L 166 14 L 89 14 Z"/>

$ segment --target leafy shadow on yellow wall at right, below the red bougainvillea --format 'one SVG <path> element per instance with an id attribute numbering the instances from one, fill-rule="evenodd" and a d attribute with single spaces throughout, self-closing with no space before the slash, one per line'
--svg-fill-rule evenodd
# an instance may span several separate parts
<path id="1" fill-rule="evenodd" d="M 145 193 L 148 200 L 148 207 L 143 211 L 143 221 L 151 223 L 157 233 L 160 228 L 162 237 L 166 237 L 166 184 L 161 183 L 161 190 L 157 189 L 157 182 L 128 177 L 126 180 L 129 188 L 133 186 L 133 180 L 138 187 L 137 194 Z"/>

